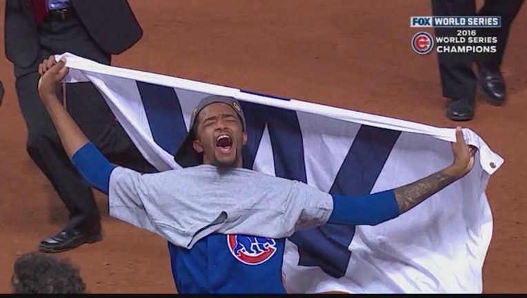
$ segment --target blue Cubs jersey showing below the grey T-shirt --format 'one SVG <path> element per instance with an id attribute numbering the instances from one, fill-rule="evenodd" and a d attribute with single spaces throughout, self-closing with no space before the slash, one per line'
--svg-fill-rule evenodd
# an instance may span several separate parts
<path id="1" fill-rule="evenodd" d="M 168 242 L 180 294 L 285 294 L 285 239 L 212 234 L 190 250 Z"/>

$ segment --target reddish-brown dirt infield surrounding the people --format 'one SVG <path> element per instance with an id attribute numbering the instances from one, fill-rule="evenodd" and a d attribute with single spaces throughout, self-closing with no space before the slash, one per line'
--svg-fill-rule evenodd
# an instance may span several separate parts
<path id="1" fill-rule="evenodd" d="M 0 0 L 3 24 L 5 1 Z M 257 92 L 455 126 L 444 117 L 435 54 L 410 48 L 412 15 L 422 0 L 130 1 L 143 39 L 114 57 L 115 66 L 159 72 Z M 382 22 L 382 23 L 381 23 Z M 484 292 L 527 292 L 527 8 L 510 32 L 503 70 L 509 101 L 479 102 L 466 126 L 506 159 L 487 189 L 495 219 L 484 266 Z M 3 34 L 3 30 L 0 30 Z M 431 32 L 431 31 L 429 31 Z M 523 37 L 522 37 L 523 36 Z M 3 49 L 3 35 L 0 38 Z M 57 232 L 67 212 L 25 149 L 26 128 L 3 52 L 0 79 L 0 292 L 10 291 L 12 262 Z M 523 124 L 522 124 L 523 123 Z M 97 193 L 105 239 L 63 253 L 81 266 L 92 293 L 173 293 L 166 242 L 108 218 Z"/>

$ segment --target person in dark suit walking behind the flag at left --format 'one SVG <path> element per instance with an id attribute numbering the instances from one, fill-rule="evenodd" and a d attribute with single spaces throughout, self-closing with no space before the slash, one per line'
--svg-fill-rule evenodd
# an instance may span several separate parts
<path id="1" fill-rule="evenodd" d="M 72 166 L 37 91 L 38 66 L 50 54 L 71 52 L 110 64 L 142 37 L 126 0 L 6 0 L 6 57 L 14 64 L 15 87 L 28 128 L 26 150 L 52 183 L 70 213 L 66 226 L 39 244 L 43 252 L 61 252 L 102 239 L 92 188 Z M 115 163 L 156 172 L 115 120 L 92 83 L 65 84 L 72 117 Z M 24 199 L 24 198 L 21 198 Z"/>

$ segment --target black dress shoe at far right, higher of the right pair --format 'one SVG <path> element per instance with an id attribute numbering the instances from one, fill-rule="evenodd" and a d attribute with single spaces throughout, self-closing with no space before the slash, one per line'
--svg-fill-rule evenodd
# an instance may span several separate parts
<path id="1" fill-rule="evenodd" d="M 506 99 L 506 86 L 499 68 L 487 68 L 481 64 L 478 64 L 478 68 L 479 84 L 486 95 L 485 101 L 494 106 L 503 105 Z"/>

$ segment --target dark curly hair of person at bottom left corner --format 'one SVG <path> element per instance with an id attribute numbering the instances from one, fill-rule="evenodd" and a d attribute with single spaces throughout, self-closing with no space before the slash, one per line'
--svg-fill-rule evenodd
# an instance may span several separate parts
<path id="1" fill-rule="evenodd" d="M 14 261 L 13 294 L 83 294 L 86 284 L 69 259 L 28 252 Z"/>

